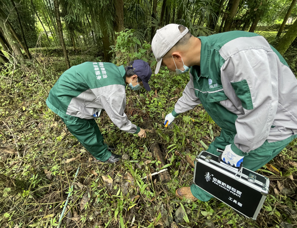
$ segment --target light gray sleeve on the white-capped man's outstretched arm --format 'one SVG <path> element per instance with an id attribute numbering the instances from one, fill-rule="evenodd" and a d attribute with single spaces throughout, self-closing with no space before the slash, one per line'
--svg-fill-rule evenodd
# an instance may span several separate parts
<path id="1" fill-rule="evenodd" d="M 174 110 L 176 113 L 181 114 L 194 109 L 195 106 L 200 105 L 201 102 L 195 95 L 193 76 L 190 73 L 190 81 L 188 82 L 185 90 L 183 91 L 183 96 L 176 102 Z"/>

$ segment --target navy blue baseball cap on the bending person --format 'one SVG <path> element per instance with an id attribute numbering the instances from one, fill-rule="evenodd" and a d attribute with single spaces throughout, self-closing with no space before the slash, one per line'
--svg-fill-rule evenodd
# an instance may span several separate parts
<path id="1" fill-rule="evenodd" d="M 131 69 L 131 68 L 128 67 L 128 69 Z M 139 76 L 142 79 L 145 89 L 147 91 L 150 91 L 148 80 L 152 72 L 148 63 L 141 59 L 134 60 L 134 63 L 132 65 L 132 70 L 135 73 L 135 75 Z"/>

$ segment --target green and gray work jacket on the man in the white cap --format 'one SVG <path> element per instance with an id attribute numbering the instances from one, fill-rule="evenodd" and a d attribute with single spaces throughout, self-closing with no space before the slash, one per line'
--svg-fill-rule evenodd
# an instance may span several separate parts
<path id="1" fill-rule="evenodd" d="M 238 155 L 297 134 L 297 79 L 265 38 L 243 31 L 199 37 L 200 66 L 174 116 L 202 104 Z"/>

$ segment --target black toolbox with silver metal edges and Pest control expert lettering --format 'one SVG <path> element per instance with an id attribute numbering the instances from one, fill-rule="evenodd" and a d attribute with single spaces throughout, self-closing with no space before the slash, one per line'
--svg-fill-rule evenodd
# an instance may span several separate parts
<path id="1" fill-rule="evenodd" d="M 268 194 L 269 179 L 218 161 L 202 151 L 196 157 L 194 184 L 248 218 L 256 219 Z"/>

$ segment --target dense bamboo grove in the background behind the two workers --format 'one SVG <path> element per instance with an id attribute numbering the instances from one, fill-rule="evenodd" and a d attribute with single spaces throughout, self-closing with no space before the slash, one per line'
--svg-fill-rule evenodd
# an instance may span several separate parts
<path id="1" fill-rule="evenodd" d="M 32 58 L 29 48 L 96 47 L 110 61 L 117 34 L 133 29 L 150 42 L 169 23 L 187 26 L 194 36 L 231 30 L 277 31 L 283 54 L 297 36 L 297 0 L 0 0 L 1 65 Z M 282 24 L 276 22 L 283 21 Z M 288 24 L 289 21 L 289 24 Z M 287 25 L 286 25 L 287 23 Z M 285 35 L 286 34 L 286 35 Z M 5 51 L 7 54 L 3 53 Z M 8 55 L 8 56 L 7 56 Z"/>

